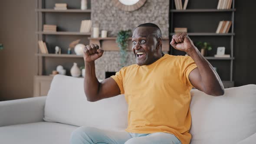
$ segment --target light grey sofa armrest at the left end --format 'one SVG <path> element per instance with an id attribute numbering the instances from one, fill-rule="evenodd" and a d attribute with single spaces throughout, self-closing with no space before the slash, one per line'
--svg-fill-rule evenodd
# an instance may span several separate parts
<path id="1" fill-rule="evenodd" d="M 0 101 L 0 127 L 43 121 L 46 96 Z"/>

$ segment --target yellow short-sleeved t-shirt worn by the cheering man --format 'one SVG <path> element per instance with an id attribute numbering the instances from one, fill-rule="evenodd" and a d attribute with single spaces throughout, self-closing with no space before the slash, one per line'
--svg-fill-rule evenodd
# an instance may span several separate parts
<path id="1" fill-rule="evenodd" d="M 111 76 L 128 103 L 125 131 L 170 133 L 189 144 L 192 85 L 188 75 L 196 67 L 190 56 L 165 54 L 151 65 L 130 65 Z"/>

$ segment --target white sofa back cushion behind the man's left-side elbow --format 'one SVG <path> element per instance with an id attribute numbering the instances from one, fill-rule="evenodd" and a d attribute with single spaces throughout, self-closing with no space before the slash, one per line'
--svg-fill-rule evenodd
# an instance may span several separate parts
<path id="1" fill-rule="evenodd" d="M 127 108 L 124 95 L 89 102 L 83 78 L 56 75 L 46 98 L 44 121 L 123 130 Z"/>

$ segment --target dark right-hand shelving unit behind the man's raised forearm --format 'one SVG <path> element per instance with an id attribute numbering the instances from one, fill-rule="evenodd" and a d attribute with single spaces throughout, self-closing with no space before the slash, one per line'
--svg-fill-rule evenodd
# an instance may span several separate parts
<path id="1" fill-rule="evenodd" d="M 208 51 L 205 58 L 217 68 L 220 79 L 223 80 L 225 88 L 233 87 L 233 43 L 234 43 L 234 14 L 235 0 L 232 0 L 232 7 L 228 10 L 217 10 L 219 0 L 189 0 L 187 10 L 176 10 L 174 0 L 171 0 L 170 10 L 170 37 L 174 35 L 175 27 L 187 27 L 188 36 L 194 43 L 209 42 L 212 50 Z M 184 1 L 183 1 L 184 2 Z M 220 21 L 232 21 L 229 33 L 215 33 Z M 216 58 L 217 47 L 224 46 L 225 54 L 230 58 Z M 200 49 L 199 49 L 200 50 Z M 185 52 L 178 51 L 171 47 L 172 55 L 185 55 Z"/>

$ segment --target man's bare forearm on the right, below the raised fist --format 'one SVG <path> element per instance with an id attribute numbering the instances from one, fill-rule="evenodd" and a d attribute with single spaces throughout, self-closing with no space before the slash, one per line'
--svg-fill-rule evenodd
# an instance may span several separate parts
<path id="1" fill-rule="evenodd" d="M 223 95 L 223 84 L 213 66 L 200 54 L 196 47 L 188 54 L 197 65 L 204 92 L 210 95 Z"/>

